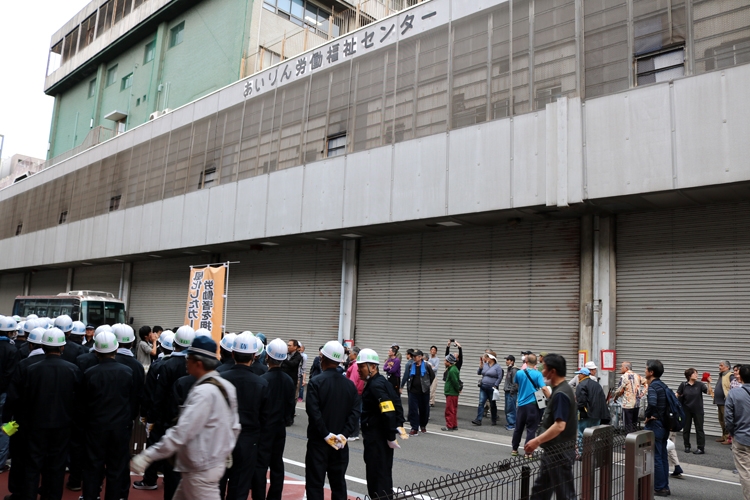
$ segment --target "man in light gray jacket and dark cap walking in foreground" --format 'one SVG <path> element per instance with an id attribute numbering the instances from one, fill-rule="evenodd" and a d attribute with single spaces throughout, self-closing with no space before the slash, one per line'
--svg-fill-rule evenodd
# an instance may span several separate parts
<path id="1" fill-rule="evenodd" d="M 161 440 L 133 457 L 130 470 L 142 474 L 151 462 L 176 455 L 182 480 L 174 500 L 219 500 L 224 475 L 240 433 L 237 391 L 215 371 L 216 342 L 196 337 L 187 351 L 187 371 L 197 381 L 179 420 Z"/>

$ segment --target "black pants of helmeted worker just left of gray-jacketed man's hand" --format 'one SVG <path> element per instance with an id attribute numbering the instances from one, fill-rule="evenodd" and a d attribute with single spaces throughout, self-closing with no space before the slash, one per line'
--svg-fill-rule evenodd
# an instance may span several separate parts
<path id="1" fill-rule="evenodd" d="M 123 485 L 130 485 L 128 444 L 130 429 L 126 426 L 90 429 L 86 433 L 86 467 L 83 470 L 83 498 L 96 500 L 102 479 L 107 480 L 105 500 L 123 498 Z"/>

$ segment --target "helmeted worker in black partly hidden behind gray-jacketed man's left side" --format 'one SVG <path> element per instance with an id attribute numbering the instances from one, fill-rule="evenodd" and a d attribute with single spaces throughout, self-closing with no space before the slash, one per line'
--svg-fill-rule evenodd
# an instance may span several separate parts
<path id="1" fill-rule="evenodd" d="M 194 339 L 195 331 L 192 328 L 187 325 L 178 328 L 172 343 L 174 351 L 169 359 L 165 359 L 158 368 L 153 400 L 156 411 L 154 430 L 157 435 L 163 436 L 167 429 L 177 422 L 178 407 L 174 396 L 174 385 L 177 380 L 188 374 L 185 357 Z M 161 469 L 164 473 L 164 500 L 171 500 L 180 482 L 180 473 L 175 472 L 172 464 L 167 460 L 162 461 Z"/>

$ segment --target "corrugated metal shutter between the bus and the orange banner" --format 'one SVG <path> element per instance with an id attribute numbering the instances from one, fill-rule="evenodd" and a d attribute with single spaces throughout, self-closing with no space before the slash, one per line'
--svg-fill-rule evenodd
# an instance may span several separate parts
<path id="1" fill-rule="evenodd" d="M 208 257 L 154 259 L 133 264 L 130 310 L 133 328 L 160 325 L 164 329 L 185 323 L 190 266 L 207 264 Z"/>

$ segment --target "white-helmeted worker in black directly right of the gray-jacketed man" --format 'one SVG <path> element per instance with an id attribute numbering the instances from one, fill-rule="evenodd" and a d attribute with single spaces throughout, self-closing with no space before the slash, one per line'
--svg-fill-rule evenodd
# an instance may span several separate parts
<path id="1" fill-rule="evenodd" d="M 219 483 L 219 492 L 222 499 L 246 500 L 253 485 L 261 436 L 266 435 L 265 426 L 270 407 L 268 382 L 250 370 L 260 342 L 250 332 L 234 337 L 234 345 L 231 347 L 235 364 L 221 376 L 237 389 L 237 409 L 242 430 L 232 451 L 232 467 L 224 473 Z M 265 493 L 263 484 L 260 491 L 253 492 L 253 498 L 264 498 Z"/>

